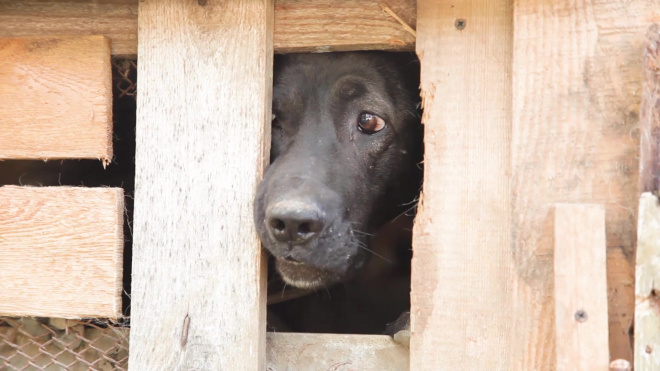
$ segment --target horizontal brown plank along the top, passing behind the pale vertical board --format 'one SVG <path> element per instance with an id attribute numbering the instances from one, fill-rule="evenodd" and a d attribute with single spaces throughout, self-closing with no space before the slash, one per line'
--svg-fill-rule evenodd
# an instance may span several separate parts
<path id="1" fill-rule="evenodd" d="M 413 50 L 415 37 L 379 3 L 415 27 L 415 0 L 278 0 L 275 51 Z M 104 35 L 112 54 L 136 55 L 137 9 L 137 0 L 0 0 L 0 36 Z"/>

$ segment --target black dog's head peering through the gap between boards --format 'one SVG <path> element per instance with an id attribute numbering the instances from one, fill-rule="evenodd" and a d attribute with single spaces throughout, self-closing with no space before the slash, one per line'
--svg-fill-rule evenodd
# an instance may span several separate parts
<path id="1" fill-rule="evenodd" d="M 420 187 L 418 62 L 385 52 L 277 56 L 271 165 L 254 219 L 292 286 L 351 277 L 369 234 Z"/>

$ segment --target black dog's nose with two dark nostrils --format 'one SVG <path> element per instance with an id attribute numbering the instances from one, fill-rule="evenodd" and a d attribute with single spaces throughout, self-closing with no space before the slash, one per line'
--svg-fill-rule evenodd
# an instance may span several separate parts
<path id="1" fill-rule="evenodd" d="M 301 245 L 325 227 L 323 213 L 313 203 L 282 201 L 266 210 L 266 224 L 279 242 Z"/>

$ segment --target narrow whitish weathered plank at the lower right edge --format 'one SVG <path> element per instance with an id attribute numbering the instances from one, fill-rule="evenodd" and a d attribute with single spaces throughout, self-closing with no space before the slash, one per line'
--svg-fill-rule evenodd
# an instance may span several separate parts
<path id="1" fill-rule="evenodd" d="M 635 369 L 660 369 L 660 205 L 657 196 L 639 199 L 635 267 Z"/>

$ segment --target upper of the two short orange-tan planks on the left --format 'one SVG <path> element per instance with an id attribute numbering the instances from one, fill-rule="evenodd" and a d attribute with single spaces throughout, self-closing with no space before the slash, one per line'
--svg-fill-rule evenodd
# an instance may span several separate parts
<path id="1" fill-rule="evenodd" d="M 0 102 L 0 160 L 112 159 L 106 38 L 0 38 Z"/>

